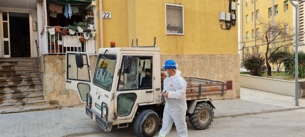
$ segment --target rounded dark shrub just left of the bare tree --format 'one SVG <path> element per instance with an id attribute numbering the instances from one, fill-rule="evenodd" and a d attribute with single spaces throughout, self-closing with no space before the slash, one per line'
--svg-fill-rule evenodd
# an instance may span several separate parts
<path id="1" fill-rule="evenodd" d="M 247 55 L 244 60 L 244 67 L 252 76 L 261 77 L 266 70 L 265 59 L 260 55 Z"/>

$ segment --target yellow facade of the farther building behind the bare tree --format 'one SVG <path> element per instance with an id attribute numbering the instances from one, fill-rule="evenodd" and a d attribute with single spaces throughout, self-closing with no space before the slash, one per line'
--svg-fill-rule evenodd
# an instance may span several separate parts
<path id="1" fill-rule="evenodd" d="M 248 6 L 246 6 L 246 1 L 248 1 Z M 255 0 L 255 3 L 252 3 L 252 0 L 243 0 L 242 4 L 242 17 L 243 17 L 243 23 L 242 23 L 242 36 L 246 36 L 246 32 L 249 32 L 249 39 L 246 42 L 246 47 L 249 47 L 250 53 L 252 53 L 252 47 L 255 46 L 255 50 L 257 53 L 257 46 L 260 47 L 260 53 L 266 53 L 267 45 L 262 43 L 260 39 L 252 38 L 252 30 L 255 31 L 255 36 L 257 35 L 257 28 L 260 28 L 259 21 L 257 19 L 257 10 L 259 10 L 260 18 L 264 19 L 265 21 L 271 21 L 272 17 L 269 17 L 269 8 L 273 6 L 273 13 L 274 13 L 274 22 L 283 22 L 283 26 L 285 23 L 288 23 L 289 27 L 293 27 L 293 14 L 292 10 L 294 10 L 294 7 L 291 5 L 290 2 L 288 2 L 288 11 L 286 12 L 284 2 L 286 0 L 274 0 L 274 5 L 271 5 L 272 0 Z M 254 10 L 254 4 L 255 4 L 255 10 Z M 275 5 L 278 5 L 278 15 L 275 15 Z M 255 13 L 255 20 L 252 21 L 252 12 Z M 246 22 L 246 15 L 249 15 L 249 22 Z M 263 30 L 260 29 L 260 36 L 263 34 Z M 246 39 L 243 39 L 244 41 Z M 272 45 L 269 46 L 270 48 Z M 289 47 L 290 50 L 292 50 L 292 46 Z"/>

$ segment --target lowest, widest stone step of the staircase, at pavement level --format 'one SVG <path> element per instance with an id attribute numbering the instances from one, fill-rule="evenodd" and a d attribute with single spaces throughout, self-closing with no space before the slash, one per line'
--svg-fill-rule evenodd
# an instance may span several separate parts
<path id="1" fill-rule="evenodd" d="M 22 108 L 10 108 L 10 109 L 3 109 L 3 110 L 1 109 L 0 114 L 26 112 L 26 111 L 56 110 L 56 109 L 60 109 L 59 105 L 45 104 L 45 105 L 22 107 Z"/>

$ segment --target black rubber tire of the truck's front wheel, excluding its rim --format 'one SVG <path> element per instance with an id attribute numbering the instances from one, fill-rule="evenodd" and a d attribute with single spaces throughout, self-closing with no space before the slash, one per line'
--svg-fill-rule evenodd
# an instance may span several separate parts
<path id="1" fill-rule="evenodd" d="M 156 127 L 151 133 L 145 132 L 145 128 L 144 128 L 145 121 L 149 118 L 154 118 L 156 122 L 155 124 Z M 151 109 L 143 110 L 139 113 L 139 115 L 135 119 L 135 124 L 134 124 L 135 135 L 137 137 L 152 137 L 153 135 L 156 134 L 159 128 L 159 123 L 160 123 L 159 116 L 155 111 Z"/>

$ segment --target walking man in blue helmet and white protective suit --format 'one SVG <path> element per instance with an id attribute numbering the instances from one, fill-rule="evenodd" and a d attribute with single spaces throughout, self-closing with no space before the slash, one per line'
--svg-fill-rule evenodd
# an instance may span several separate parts
<path id="1" fill-rule="evenodd" d="M 173 126 L 176 129 L 179 137 L 187 137 L 188 129 L 186 126 L 185 115 L 187 110 L 186 104 L 186 81 L 181 77 L 181 71 L 177 70 L 178 64 L 173 60 L 167 60 L 163 69 L 167 76 L 163 82 L 163 96 L 165 97 L 165 107 L 163 111 L 162 128 L 159 132 L 159 137 L 165 137 Z M 163 102 L 163 100 L 161 99 Z"/>

